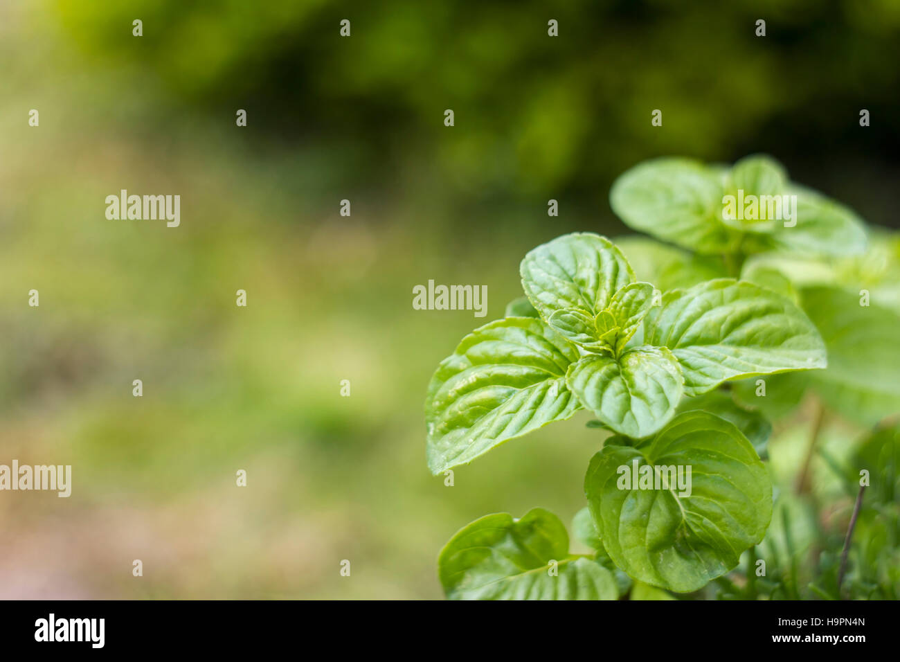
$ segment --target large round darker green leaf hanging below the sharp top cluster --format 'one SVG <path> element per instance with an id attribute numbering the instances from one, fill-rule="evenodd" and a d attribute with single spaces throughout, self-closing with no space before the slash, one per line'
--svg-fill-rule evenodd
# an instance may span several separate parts
<path id="1" fill-rule="evenodd" d="M 638 467 L 682 467 L 684 476 L 691 467 L 690 494 L 670 484 L 665 470 L 658 474 L 662 489 L 626 485 L 635 460 Z M 680 593 L 737 566 L 741 552 L 762 540 L 772 514 L 769 475 L 750 441 L 705 412 L 679 414 L 637 448 L 608 442 L 591 459 L 584 490 L 616 565 Z"/>

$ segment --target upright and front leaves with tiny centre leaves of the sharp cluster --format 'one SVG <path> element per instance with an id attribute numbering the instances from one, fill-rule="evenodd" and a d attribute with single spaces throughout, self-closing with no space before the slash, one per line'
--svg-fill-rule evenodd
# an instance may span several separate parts
<path id="1" fill-rule="evenodd" d="M 522 260 L 522 286 L 537 313 L 582 356 L 566 385 L 613 430 L 642 437 L 658 429 L 682 394 L 678 362 L 664 348 L 629 347 L 653 304 L 625 256 L 594 234 L 570 234 Z"/>

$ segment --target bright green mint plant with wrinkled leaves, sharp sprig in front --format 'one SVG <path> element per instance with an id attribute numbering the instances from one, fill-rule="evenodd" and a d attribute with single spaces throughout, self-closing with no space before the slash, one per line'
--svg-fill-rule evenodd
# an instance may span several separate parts
<path id="1" fill-rule="evenodd" d="M 761 459 L 772 428 L 747 389 L 760 376 L 828 372 L 831 348 L 792 273 L 828 260 L 851 269 L 864 224 L 767 157 L 734 168 L 651 161 L 617 180 L 611 203 L 676 246 L 626 238 L 623 251 L 574 233 L 533 249 L 520 267 L 525 297 L 440 363 L 426 402 L 436 475 L 590 410 L 590 427 L 610 436 L 590 461 L 573 531 L 595 551 L 570 554 L 563 522 L 543 509 L 488 515 L 440 554 L 449 598 L 638 599 L 713 580 L 732 597 L 759 594 L 749 571 L 753 594 L 724 577 L 763 541 L 773 512 Z M 784 218 L 773 218 L 779 208 Z M 812 383 L 784 385 L 802 394 Z M 896 406 L 891 393 L 872 401 L 879 413 Z M 687 467 L 689 489 L 676 467 Z M 624 485 L 628 472 L 640 480 Z"/>

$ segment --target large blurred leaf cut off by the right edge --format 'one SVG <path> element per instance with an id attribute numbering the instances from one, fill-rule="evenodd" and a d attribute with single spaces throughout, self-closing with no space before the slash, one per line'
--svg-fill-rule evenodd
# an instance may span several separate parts
<path id="1" fill-rule="evenodd" d="M 801 295 L 828 348 L 828 369 L 811 375 L 815 392 L 832 409 L 866 425 L 900 413 L 900 314 L 860 305 L 859 294 L 832 287 Z"/>

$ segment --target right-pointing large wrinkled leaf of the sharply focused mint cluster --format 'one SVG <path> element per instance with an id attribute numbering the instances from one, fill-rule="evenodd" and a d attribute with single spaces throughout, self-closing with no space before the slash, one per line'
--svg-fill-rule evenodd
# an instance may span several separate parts
<path id="1" fill-rule="evenodd" d="M 720 278 L 669 293 L 645 321 L 644 342 L 671 349 L 685 393 L 727 379 L 825 367 L 819 332 L 785 296 Z"/>

